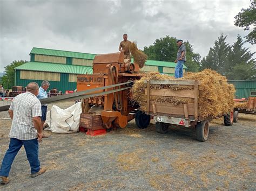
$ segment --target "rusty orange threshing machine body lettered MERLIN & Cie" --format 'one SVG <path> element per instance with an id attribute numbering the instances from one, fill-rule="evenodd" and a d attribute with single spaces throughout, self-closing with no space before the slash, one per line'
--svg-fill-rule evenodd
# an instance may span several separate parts
<path id="1" fill-rule="evenodd" d="M 139 66 L 137 63 L 131 63 L 129 59 L 125 60 L 123 52 L 96 55 L 93 60 L 93 74 L 78 75 L 77 91 L 134 81 L 141 77 L 138 72 Z M 127 86 L 132 86 L 132 84 L 98 90 L 94 93 L 121 89 Z M 103 128 L 125 128 L 127 122 L 134 118 L 131 112 L 138 108 L 138 105 L 131 103 L 131 96 L 131 89 L 125 89 L 103 96 L 90 97 L 84 102 L 88 102 L 90 108 L 95 106 L 102 108 L 100 115 Z M 88 115 L 90 115 L 90 110 Z"/>

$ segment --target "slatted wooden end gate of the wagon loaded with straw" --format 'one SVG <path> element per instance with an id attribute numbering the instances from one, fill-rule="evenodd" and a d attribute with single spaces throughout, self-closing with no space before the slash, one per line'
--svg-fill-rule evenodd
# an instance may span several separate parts
<path id="1" fill-rule="evenodd" d="M 184 115 L 186 119 L 189 116 L 194 116 L 194 121 L 199 120 L 198 116 L 198 96 L 200 81 L 198 80 L 145 80 L 146 89 L 145 95 L 147 96 L 146 112 L 153 112 L 154 115 L 161 110 L 161 113 L 166 113 L 169 115 Z M 184 86 L 194 86 L 194 89 L 184 89 L 184 90 L 171 90 L 171 89 L 150 89 L 151 84 L 166 84 L 166 85 L 184 85 Z M 172 105 L 171 103 L 158 103 L 151 102 L 151 96 L 167 96 L 167 97 L 185 97 L 193 98 L 194 103 L 188 103 L 183 105 Z"/>

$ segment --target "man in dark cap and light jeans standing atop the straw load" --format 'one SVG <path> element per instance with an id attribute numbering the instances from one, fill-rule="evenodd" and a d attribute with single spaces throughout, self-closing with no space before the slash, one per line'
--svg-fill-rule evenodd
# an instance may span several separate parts
<path id="1" fill-rule="evenodd" d="M 177 52 L 177 59 L 174 61 L 177 63 L 175 67 L 175 78 L 183 77 L 183 65 L 186 61 L 186 46 L 183 44 L 183 40 L 177 40 L 179 47 Z"/>

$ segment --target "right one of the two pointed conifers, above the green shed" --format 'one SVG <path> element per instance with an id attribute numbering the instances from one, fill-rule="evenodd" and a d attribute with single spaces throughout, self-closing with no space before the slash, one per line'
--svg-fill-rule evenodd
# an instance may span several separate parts
<path id="1" fill-rule="evenodd" d="M 248 80 L 256 78 L 256 62 L 253 58 L 255 52 L 243 47 L 244 42 L 240 35 L 232 45 L 232 51 L 228 55 L 226 76 L 229 80 Z"/>

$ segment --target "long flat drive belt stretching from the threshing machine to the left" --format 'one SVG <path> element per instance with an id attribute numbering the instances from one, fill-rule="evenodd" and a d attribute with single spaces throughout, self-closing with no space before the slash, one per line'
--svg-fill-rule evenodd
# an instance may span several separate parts
<path id="1" fill-rule="evenodd" d="M 53 96 L 53 97 L 49 97 L 49 98 L 45 98 L 40 100 L 42 104 L 48 104 L 48 103 L 56 103 L 56 102 L 63 102 L 63 101 L 69 101 L 69 100 L 79 100 L 79 97 L 95 97 L 98 95 L 95 94 L 89 94 L 89 93 L 93 93 L 95 91 L 99 91 L 99 90 L 104 90 L 104 89 L 109 89 L 109 88 L 114 88 L 114 87 L 118 87 L 118 86 L 122 86 L 125 84 L 129 84 L 132 82 L 124 82 L 124 83 L 119 83 L 119 84 L 113 84 L 110 86 L 104 86 L 104 87 L 99 87 L 99 88 L 93 88 L 93 89 L 89 89 L 89 90 L 85 90 L 85 91 L 79 91 L 76 93 L 72 93 L 72 94 L 65 94 L 65 95 L 59 95 L 59 96 Z M 126 89 L 131 88 L 131 87 L 127 87 Z M 120 91 L 120 89 L 118 89 L 117 91 Z M 117 92 L 117 91 L 113 91 Z M 110 94 L 109 91 L 104 91 L 103 94 L 100 95 L 105 95 L 105 94 Z M 85 98 L 85 97 L 84 97 Z M 2 107 L 0 107 L 0 111 L 8 111 L 10 108 L 10 105 L 4 105 Z"/>

